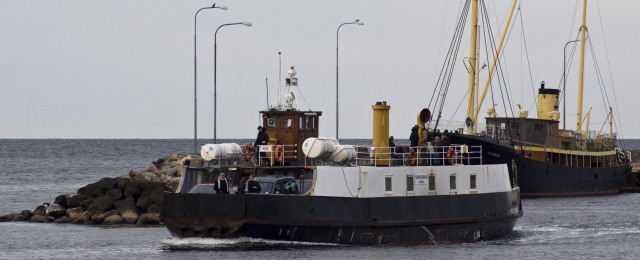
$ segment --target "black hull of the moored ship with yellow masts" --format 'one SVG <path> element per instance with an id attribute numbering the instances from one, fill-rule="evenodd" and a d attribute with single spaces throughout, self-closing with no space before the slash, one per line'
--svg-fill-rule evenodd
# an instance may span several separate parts
<path id="1" fill-rule="evenodd" d="M 448 136 L 451 143 L 481 145 L 485 164 L 506 163 L 509 176 L 517 178 L 523 197 L 615 194 L 631 173 L 629 163 L 601 168 L 569 167 L 525 158 L 505 141 L 460 134 Z M 517 176 L 512 162 L 516 164 Z"/>

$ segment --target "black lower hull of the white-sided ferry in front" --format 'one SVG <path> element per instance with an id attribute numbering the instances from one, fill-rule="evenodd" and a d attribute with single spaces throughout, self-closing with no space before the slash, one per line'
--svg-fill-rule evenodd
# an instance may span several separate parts
<path id="1" fill-rule="evenodd" d="M 384 198 L 166 193 L 178 237 L 253 237 L 348 245 L 501 238 L 522 216 L 520 191 Z"/>

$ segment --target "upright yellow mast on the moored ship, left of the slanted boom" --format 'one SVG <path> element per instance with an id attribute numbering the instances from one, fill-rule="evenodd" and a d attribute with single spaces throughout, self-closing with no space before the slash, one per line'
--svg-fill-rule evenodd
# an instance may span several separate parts
<path id="1" fill-rule="evenodd" d="M 469 122 L 473 119 L 474 114 L 474 97 L 475 97 L 475 84 L 476 84 L 476 50 L 477 50 L 477 37 L 478 37 L 478 0 L 471 1 L 471 47 L 469 54 L 469 93 L 467 94 L 467 133 L 473 132 L 473 122 Z"/>

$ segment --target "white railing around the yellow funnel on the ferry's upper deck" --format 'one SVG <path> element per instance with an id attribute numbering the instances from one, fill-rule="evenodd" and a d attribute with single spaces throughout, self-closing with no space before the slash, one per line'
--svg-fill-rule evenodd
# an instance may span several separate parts
<path id="1" fill-rule="evenodd" d="M 356 146 L 355 166 L 480 165 L 482 146 Z"/>

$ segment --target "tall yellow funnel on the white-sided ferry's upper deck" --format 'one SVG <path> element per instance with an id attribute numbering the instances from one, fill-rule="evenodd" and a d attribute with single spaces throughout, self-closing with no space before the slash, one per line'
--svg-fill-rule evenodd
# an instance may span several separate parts
<path id="1" fill-rule="evenodd" d="M 389 109 L 387 101 L 376 102 L 373 109 L 373 145 L 375 165 L 389 165 Z M 428 111 L 428 110 L 427 110 Z"/>

